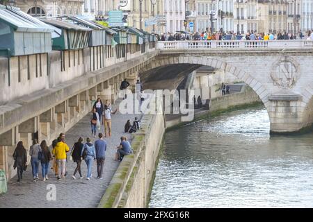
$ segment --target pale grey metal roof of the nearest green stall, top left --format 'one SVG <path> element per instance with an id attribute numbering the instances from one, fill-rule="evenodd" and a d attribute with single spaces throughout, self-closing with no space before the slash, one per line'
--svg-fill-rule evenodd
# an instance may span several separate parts
<path id="1" fill-rule="evenodd" d="M 19 8 L 0 5 L 0 22 L 8 24 L 18 32 L 51 33 L 54 28 Z"/>

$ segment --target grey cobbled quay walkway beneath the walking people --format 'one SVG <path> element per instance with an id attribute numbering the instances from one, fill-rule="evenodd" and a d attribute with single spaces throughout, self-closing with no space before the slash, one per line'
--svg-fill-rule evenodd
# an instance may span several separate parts
<path id="1" fill-rule="evenodd" d="M 113 110 L 117 107 L 117 103 L 113 105 Z M 120 114 L 117 112 L 112 117 L 112 137 L 106 139 L 106 160 L 104 163 L 103 180 L 96 179 L 97 176 L 97 164 L 93 162 L 93 178 L 86 180 L 87 167 L 86 162 L 81 163 L 81 171 L 83 173 L 83 179 L 79 179 L 79 173 L 77 173 L 77 180 L 72 179 L 72 173 L 76 167 L 76 163 L 70 161 L 68 158 L 67 171 L 68 175 L 65 180 L 56 180 L 54 173 L 49 171 L 49 180 L 43 182 L 41 176 L 40 165 L 40 180 L 33 182 L 31 176 L 31 166 L 27 167 L 27 171 L 24 172 L 22 182 L 16 182 L 17 176 L 8 182 L 8 192 L 0 195 L 0 208 L 1 207 L 97 207 L 99 200 L 102 198 L 106 187 L 111 182 L 111 178 L 118 168 L 119 162 L 114 160 L 116 147 L 120 144 L 120 137 L 122 135 L 127 136 L 130 139 L 129 133 L 124 133 L 124 125 L 127 119 L 131 122 L 134 121 L 135 114 Z M 104 127 L 102 126 L 102 133 L 104 133 Z M 99 133 L 99 132 L 97 132 Z M 72 148 L 74 142 L 82 136 L 85 141 L 86 137 L 91 137 L 89 114 L 83 117 L 74 127 L 65 133 L 65 141 L 70 148 Z M 93 138 L 93 142 L 97 138 Z M 50 164 L 51 165 L 51 164 Z M 47 185 L 52 184 L 56 186 L 56 201 L 47 200 L 48 193 Z"/>

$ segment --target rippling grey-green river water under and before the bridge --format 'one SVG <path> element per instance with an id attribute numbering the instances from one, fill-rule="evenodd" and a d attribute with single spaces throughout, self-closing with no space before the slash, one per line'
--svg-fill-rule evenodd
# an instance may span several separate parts
<path id="1" fill-rule="evenodd" d="M 269 136 L 264 108 L 166 133 L 150 207 L 313 207 L 313 133 Z"/>

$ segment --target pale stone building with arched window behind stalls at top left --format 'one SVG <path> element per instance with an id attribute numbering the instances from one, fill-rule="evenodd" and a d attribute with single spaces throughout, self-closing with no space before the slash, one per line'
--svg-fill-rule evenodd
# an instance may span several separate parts
<path id="1" fill-rule="evenodd" d="M 83 0 L 54 1 L 54 0 L 15 0 L 12 1 L 22 11 L 34 17 L 56 17 L 63 15 L 80 15 Z"/>

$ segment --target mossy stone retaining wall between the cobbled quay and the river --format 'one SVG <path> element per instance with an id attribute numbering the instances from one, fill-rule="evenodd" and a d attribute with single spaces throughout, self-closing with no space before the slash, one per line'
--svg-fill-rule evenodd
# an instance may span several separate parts
<path id="1" fill-rule="evenodd" d="M 163 114 L 147 114 L 141 119 L 142 130 L 134 134 L 132 155 L 123 158 L 99 208 L 146 207 L 157 169 L 165 123 Z"/>

